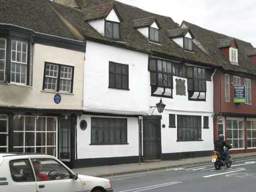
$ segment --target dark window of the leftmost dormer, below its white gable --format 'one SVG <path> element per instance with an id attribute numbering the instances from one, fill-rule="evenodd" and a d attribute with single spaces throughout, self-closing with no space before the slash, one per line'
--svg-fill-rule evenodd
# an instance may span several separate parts
<path id="1" fill-rule="evenodd" d="M 120 39 L 120 23 L 105 20 L 105 37 Z"/>

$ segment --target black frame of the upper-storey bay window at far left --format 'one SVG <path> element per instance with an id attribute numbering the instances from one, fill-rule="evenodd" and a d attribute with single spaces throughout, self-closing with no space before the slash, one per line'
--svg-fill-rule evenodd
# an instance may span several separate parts
<path id="1" fill-rule="evenodd" d="M 33 63 L 31 63 L 31 59 L 33 60 L 33 43 L 30 38 L 23 34 L 12 34 L 10 36 L 6 36 L 5 34 L 0 34 L 0 39 L 5 39 L 5 80 L 0 81 L 1 83 L 13 83 L 17 85 L 28 85 L 30 87 L 33 86 Z M 27 70 L 26 70 L 26 83 L 12 82 L 11 81 L 11 42 L 13 40 L 27 43 Z M 30 69 L 32 67 L 32 69 Z"/>

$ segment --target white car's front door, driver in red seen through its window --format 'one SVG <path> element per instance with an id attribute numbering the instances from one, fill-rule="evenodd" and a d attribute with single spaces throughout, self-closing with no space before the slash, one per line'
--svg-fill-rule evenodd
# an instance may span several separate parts
<path id="1" fill-rule="evenodd" d="M 38 192 L 83 191 L 80 179 L 72 179 L 66 167 L 53 158 L 31 158 Z"/>

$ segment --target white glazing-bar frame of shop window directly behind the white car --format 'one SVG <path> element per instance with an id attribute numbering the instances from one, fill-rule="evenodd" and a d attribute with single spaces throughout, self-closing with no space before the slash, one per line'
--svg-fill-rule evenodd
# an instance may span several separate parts
<path id="1" fill-rule="evenodd" d="M 26 148 L 33 148 L 34 147 L 34 152 L 36 153 L 36 148 L 37 147 L 45 147 L 45 154 L 47 154 L 47 148 L 48 147 L 55 147 L 55 156 L 58 155 L 58 118 L 57 117 L 50 117 L 50 116 L 21 116 L 24 117 L 23 121 L 23 130 L 22 131 L 13 131 L 13 132 L 20 132 L 23 133 L 23 146 L 13 146 L 14 149 L 23 149 L 23 153 L 25 152 Z M 25 118 L 26 117 L 34 117 L 35 118 L 35 126 L 34 126 L 34 131 L 25 131 Z M 37 117 L 45 117 L 46 118 L 46 123 L 45 123 L 45 131 L 37 131 Z M 18 116 L 14 116 L 14 118 L 19 118 Z M 56 123 L 56 131 L 47 131 L 47 118 L 53 118 Z M 26 146 L 25 145 L 25 133 L 31 132 L 34 133 L 34 146 Z M 45 146 L 37 146 L 36 144 L 36 135 L 37 133 L 43 132 L 45 133 Z M 47 133 L 52 132 L 55 133 L 55 146 L 48 146 L 47 145 Z"/>

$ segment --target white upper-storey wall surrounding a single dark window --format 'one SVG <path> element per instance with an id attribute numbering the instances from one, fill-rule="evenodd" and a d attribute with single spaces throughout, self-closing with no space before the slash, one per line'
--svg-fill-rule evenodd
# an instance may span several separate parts
<path id="1" fill-rule="evenodd" d="M 129 65 L 130 90 L 108 88 L 109 61 Z M 148 55 L 87 41 L 84 66 L 84 110 L 116 114 L 147 114 Z"/>

